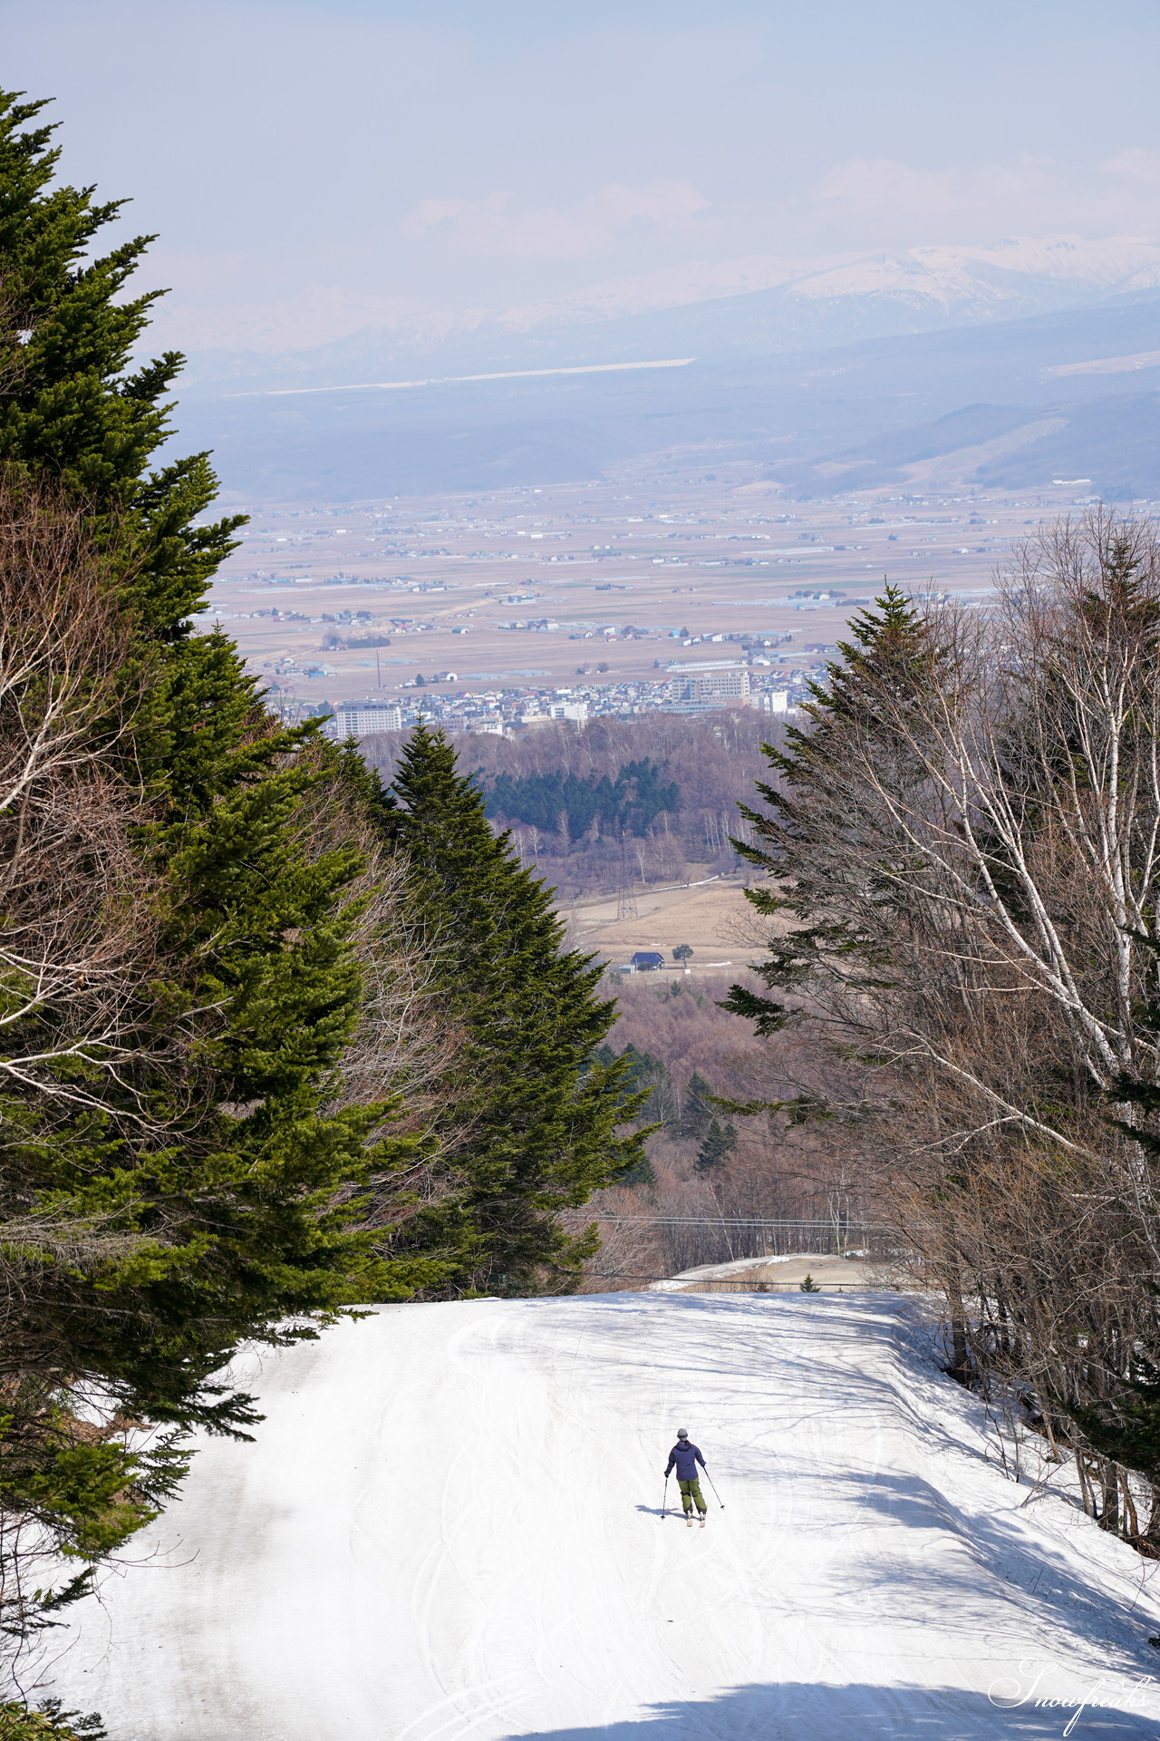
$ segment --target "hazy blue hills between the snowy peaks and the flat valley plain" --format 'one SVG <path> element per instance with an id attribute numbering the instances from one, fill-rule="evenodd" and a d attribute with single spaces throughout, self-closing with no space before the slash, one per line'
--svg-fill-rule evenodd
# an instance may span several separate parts
<path id="1" fill-rule="evenodd" d="M 186 385 L 181 451 L 190 444 L 212 447 L 226 500 L 247 505 L 551 484 L 598 477 L 663 451 L 678 454 L 682 467 L 697 467 L 710 454 L 770 465 L 795 486 L 809 472 L 809 493 L 821 494 L 854 486 L 845 472 L 833 482 L 814 475 L 809 468 L 819 461 L 842 460 L 866 444 L 877 453 L 880 440 L 897 460 L 894 432 L 918 434 L 920 446 L 929 446 L 925 425 L 948 413 L 983 404 L 1000 421 L 1003 407 L 1021 416 L 1063 407 L 1068 416 L 1068 407 L 1078 414 L 1089 400 L 1118 397 L 1117 387 L 1129 385 L 1123 376 L 1085 369 L 1148 357 L 1160 346 L 1158 334 L 1160 299 L 1146 292 L 1097 308 L 802 353 L 757 343 L 750 355 L 720 353 L 697 343 L 694 333 L 654 334 L 647 346 L 642 338 L 631 353 L 635 362 L 696 359 L 675 369 L 438 380 L 400 392 L 266 393 Z M 1075 373 L 1077 366 L 1083 369 Z M 412 376 L 355 371 L 343 380 Z M 1132 393 L 1155 392 L 1158 381 L 1155 366 L 1130 371 Z M 948 449 L 936 440 L 936 451 Z M 1120 475 L 1118 451 L 1115 444 L 1108 449 L 1110 477 Z M 1054 460 L 1043 463 L 1047 470 L 1037 477 L 1047 482 Z M 1103 487 L 1104 449 L 1090 447 L 1085 463 Z M 1139 472 L 1139 482 L 1160 491 L 1155 472 Z"/>

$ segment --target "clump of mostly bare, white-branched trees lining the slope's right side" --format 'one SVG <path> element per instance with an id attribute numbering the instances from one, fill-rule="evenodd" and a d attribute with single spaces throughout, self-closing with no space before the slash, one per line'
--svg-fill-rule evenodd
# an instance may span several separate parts
<path id="1" fill-rule="evenodd" d="M 1033 1389 L 1101 1522 L 1155 1534 L 1082 1421 L 1160 1341 L 1155 1179 L 1110 1121 L 1123 1078 L 1160 1081 L 1160 547 L 1099 512 L 1033 540 L 993 615 L 894 595 L 863 630 L 750 818 L 795 994 L 750 1013 L 845 1057 L 847 1139 L 955 1367 L 970 1344 Z"/>

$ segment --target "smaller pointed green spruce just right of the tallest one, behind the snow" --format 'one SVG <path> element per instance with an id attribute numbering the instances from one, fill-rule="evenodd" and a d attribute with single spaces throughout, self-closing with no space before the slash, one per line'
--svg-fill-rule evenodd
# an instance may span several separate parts
<path id="1" fill-rule="evenodd" d="M 595 1238 L 563 1233 L 558 1212 L 643 1160 L 643 1133 L 616 1126 L 645 1095 L 626 1095 L 624 1059 L 593 1057 L 616 1005 L 597 994 L 600 966 L 563 947 L 544 884 L 492 834 L 442 733 L 416 728 L 393 790 L 383 827 L 463 1034 L 443 1118 L 452 1191 L 417 1234 L 456 1252 L 449 1292 L 560 1292 Z"/>

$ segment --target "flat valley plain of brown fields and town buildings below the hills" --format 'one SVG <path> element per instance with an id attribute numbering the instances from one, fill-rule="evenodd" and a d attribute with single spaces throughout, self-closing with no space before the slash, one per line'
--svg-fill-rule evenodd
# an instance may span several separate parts
<path id="1" fill-rule="evenodd" d="M 259 505 L 219 618 L 287 716 L 341 736 L 417 717 L 511 731 L 654 710 L 795 710 L 892 581 L 986 609 L 997 569 L 1085 479 L 998 496 L 788 498 L 696 477 L 344 505 Z"/>

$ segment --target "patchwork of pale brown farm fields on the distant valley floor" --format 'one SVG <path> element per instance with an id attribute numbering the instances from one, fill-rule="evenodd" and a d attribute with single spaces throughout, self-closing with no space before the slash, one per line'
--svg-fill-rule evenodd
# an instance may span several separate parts
<path id="1" fill-rule="evenodd" d="M 767 670 L 793 670 L 817 663 L 823 655 L 807 646 L 833 642 L 883 575 L 983 597 L 1010 541 L 1064 505 L 1057 494 L 814 503 L 736 479 L 626 475 L 341 510 L 263 507 L 212 608 L 252 669 L 303 702 L 412 695 L 402 684 L 417 672 L 456 674 L 428 695 L 659 681 L 671 656 L 736 655 L 729 642 L 680 648 L 670 629 L 790 632 Z M 845 602 L 793 599 L 828 588 Z M 273 608 L 278 618 L 256 615 Z M 391 644 L 325 649 L 336 625 L 323 616 L 344 611 L 367 618 L 351 635 Z M 515 618 L 557 627 L 499 627 Z M 303 676 L 311 662 L 327 672 Z"/>

